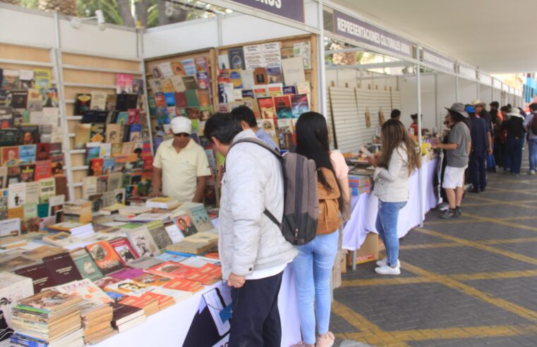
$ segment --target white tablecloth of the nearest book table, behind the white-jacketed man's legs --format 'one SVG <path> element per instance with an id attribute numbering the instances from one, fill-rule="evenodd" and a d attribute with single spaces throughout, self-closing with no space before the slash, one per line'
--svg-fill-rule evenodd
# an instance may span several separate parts
<path id="1" fill-rule="evenodd" d="M 286 267 L 279 291 L 278 307 L 282 319 L 282 346 L 291 346 L 301 341 L 298 307 L 293 272 Z M 207 300 L 214 300 L 207 306 Z M 219 282 L 195 293 L 192 298 L 157 312 L 143 324 L 98 343 L 98 347 L 126 346 L 184 346 L 222 347 L 229 339 L 229 322 L 213 319 L 210 310 L 216 307 L 219 298 L 226 305 L 231 303 L 230 290 Z M 218 310 L 215 310 L 218 312 Z M 218 317 L 218 316 L 217 316 Z M 218 327 L 217 327 L 218 326 Z M 188 336 L 188 341 L 185 341 Z M 205 340 L 206 341 L 205 341 Z M 211 341 L 210 343 L 208 341 Z"/>

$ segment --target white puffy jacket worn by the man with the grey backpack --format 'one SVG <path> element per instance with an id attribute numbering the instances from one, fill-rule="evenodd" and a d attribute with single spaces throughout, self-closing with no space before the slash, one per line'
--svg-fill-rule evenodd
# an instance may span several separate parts
<path id="1" fill-rule="evenodd" d="M 234 141 L 255 138 L 243 130 Z M 282 220 L 284 184 L 282 167 L 274 154 L 253 143 L 239 143 L 226 157 L 219 213 L 219 254 L 222 276 L 239 276 L 291 262 L 297 250 L 285 241 L 265 207 Z"/>

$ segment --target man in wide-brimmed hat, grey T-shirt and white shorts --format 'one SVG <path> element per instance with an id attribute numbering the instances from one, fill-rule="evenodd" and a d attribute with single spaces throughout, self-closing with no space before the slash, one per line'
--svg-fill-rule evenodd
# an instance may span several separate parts
<path id="1" fill-rule="evenodd" d="M 446 169 L 442 187 L 446 191 L 449 209 L 440 215 L 442 219 L 450 219 L 461 215 L 461 202 L 464 193 L 464 171 L 468 167 L 471 150 L 471 135 L 468 113 L 461 103 L 447 108 L 453 123 L 447 143 L 433 143 L 433 148 L 446 150 Z"/>

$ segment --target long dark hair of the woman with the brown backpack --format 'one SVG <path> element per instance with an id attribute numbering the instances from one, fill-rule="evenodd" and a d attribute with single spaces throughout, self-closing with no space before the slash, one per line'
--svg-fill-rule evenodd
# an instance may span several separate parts
<path id="1" fill-rule="evenodd" d="M 298 117 L 298 121 L 296 121 L 296 153 L 302 154 L 308 159 L 313 159 L 317 168 L 317 179 L 329 191 L 332 191 L 332 187 L 326 181 L 321 168 L 324 167 L 332 171 L 334 178 L 336 178 L 339 192 L 343 192 L 339 187 L 334 166 L 330 161 L 330 141 L 328 140 L 328 127 L 325 116 L 310 111 Z M 344 204 L 343 194 L 340 194 L 337 200 L 339 210 L 342 211 Z"/>

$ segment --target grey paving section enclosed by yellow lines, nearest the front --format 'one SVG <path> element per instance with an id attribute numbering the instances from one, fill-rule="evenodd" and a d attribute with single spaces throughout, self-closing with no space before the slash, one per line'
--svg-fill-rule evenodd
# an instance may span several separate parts
<path id="1" fill-rule="evenodd" d="M 334 299 L 385 331 L 529 323 L 438 283 L 340 288 Z"/>

